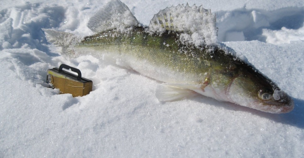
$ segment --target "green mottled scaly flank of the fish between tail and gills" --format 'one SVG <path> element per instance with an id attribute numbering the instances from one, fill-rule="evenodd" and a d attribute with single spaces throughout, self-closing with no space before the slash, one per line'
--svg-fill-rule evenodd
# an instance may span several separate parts
<path id="1" fill-rule="evenodd" d="M 210 68 L 210 55 L 205 53 L 207 50 L 180 44 L 177 34 L 172 32 L 158 36 L 150 35 L 144 28 L 135 28 L 128 34 L 111 30 L 86 37 L 77 47 L 103 52 L 103 55 L 115 56 L 115 59 L 130 58 L 131 68 L 137 70 L 136 65 L 140 65 L 145 67 L 141 72 L 143 74 L 149 74 L 146 70 L 160 73 L 157 80 L 162 82 L 184 83 L 187 78 L 188 84 L 202 83 Z M 195 57 L 192 55 L 194 52 L 197 53 Z M 170 71 L 170 77 L 165 77 L 169 74 L 162 71 Z M 183 74 L 183 78 L 175 75 L 178 73 Z"/>

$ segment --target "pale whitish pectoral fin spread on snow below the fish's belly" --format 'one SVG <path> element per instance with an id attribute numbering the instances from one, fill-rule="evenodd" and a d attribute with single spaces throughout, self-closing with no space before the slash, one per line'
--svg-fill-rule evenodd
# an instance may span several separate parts
<path id="1" fill-rule="evenodd" d="M 159 84 L 156 87 L 155 96 L 160 102 L 168 102 L 180 100 L 196 93 L 187 87 L 191 86 L 186 84 Z"/>

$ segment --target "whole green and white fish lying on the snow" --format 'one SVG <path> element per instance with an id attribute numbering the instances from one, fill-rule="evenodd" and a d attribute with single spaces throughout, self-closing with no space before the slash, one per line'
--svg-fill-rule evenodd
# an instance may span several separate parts
<path id="1" fill-rule="evenodd" d="M 276 83 L 217 42 L 216 16 L 202 6 L 167 7 L 145 26 L 124 3 L 111 0 L 87 26 L 94 34 L 86 37 L 43 30 L 62 54 L 90 54 L 160 81 L 155 97 L 162 103 L 198 93 L 267 113 L 294 108 Z"/>

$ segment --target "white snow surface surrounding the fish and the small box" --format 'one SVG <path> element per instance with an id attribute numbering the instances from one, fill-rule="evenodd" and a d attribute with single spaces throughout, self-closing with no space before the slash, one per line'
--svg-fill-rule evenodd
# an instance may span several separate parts
<path id="1" fill-rule="evenodd" d="M 13 0 L 0 6 L 0 157 L 303 157 L 304 2 L 206 0 L 218 40 L 290 94 L 295 109 L 264 113 L 193 96 L 159 103 L 159 82 L 90 55 L 70 59 L 41 28 L 82 36 L 106 1 Z M 184 1 L 123 1 L 143 24 Z M 201 1 L 190 0 L 192 6 Z M 84 97 L 48 88 L 61 63 L 93 81 Z"/>

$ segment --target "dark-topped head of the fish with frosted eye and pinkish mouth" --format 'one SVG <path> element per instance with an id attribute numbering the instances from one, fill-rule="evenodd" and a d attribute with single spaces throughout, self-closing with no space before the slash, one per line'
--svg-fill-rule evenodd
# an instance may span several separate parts
<path id="1" fill-rule="evenodd" d="M 288 94 L 262 73 L 251 70 L 242 70 L 232 80 L 227 89 L 231 102 L 268 113 L 293 110 L 294 102 Z"/>

